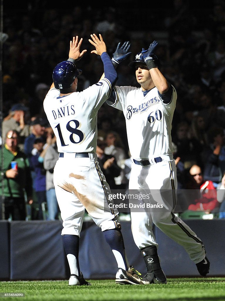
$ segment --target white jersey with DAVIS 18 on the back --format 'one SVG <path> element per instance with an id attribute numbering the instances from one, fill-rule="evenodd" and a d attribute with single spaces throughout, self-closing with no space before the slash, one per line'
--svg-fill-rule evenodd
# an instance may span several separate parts
<path id="1" fill-rule="evenodd" d="M 82 92 L 63 97 L 59 90 L 49 90 L 44 110 L 57 138 L 59 152 L 96 152 L 97 112 L 111 88 L 109 80 L 104 78 Z"/>

